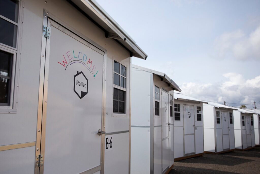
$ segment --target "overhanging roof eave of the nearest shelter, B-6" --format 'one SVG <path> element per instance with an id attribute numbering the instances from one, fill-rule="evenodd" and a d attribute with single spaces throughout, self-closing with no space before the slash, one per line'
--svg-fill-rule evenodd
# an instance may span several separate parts
<path id="1" fill-rule="evenodd" d="M 92 22 L 104 30 L 106 37 L 115 39 L 120 45 L 127 49 L 131 57 L 147 58 L 147 54 L 136 45 L 136 42 L 95 0 L 71 0 L 70 3 L 74 6 L 76 5 L 76 8 L 80 8 L 78 10 L 82 10 L 83 13 L 86 13 Z"/>

